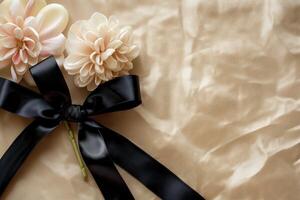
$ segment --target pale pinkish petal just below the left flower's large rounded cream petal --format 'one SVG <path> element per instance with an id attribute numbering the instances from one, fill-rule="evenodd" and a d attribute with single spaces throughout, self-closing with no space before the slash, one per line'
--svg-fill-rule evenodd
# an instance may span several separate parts
<path id="1" fill-rule="evenodd" d="M 65 50 L 66 38 L 63 34 L 59 34 L 54 38 L 42 41 L 41 55 L 60 55 Z"/>

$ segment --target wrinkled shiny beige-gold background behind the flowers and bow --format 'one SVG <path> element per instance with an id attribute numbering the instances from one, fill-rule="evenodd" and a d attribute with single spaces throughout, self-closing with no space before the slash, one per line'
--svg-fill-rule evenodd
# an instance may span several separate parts
<path id="1" fill-rule="evenodd" d="M 48 1 L 49 2 L 49 1 Z M 300 198 L 300 1 L 61 0 L 132 25 L 143 105 L 97 117 L 207 199 Z M 68 77 L 74 103 L 86 92 Z M 0 155 L 30 122 L 0 111 Z M 75 128 L 75 126 L 74 126 Z M 128 155 L 130 156 L 130 155 Z M 158 199 L 122 171 L 136 199 Z M 35 149 L 4 200 L 98 200 L 63 126 Z"/>

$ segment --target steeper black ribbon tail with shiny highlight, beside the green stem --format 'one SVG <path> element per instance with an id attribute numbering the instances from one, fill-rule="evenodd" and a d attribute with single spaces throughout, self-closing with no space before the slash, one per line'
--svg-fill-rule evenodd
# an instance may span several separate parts
<path id="1" fill-rule="evenodd" d="M 78 143 L 82 158 L 105 199 L 134 199 L 107 151 L 98 125 L 93 121 L 80 124 Z"/>

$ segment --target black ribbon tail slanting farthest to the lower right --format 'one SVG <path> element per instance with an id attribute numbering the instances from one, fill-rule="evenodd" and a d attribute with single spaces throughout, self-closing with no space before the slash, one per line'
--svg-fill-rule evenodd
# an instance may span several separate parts
<path id="1" fill-rule="evenodd" d="M 85 137 L 90 137 L 89 140 L 91 143 L 94 143 L 94 150 L 90 150 L 90 153 L 96 155 L 101 152 L 102 148 L 106 145 L 113 162 L 133 175 L 161 199 L 205 200 L 204 197 L 190 188 L 169 169 L 145 153 L 127 138 L 96 122 L 89 124 L 89 126 L 94 127 L 88 135 L 85 135 Z M 98 131 L 95 131 L 95 128 L 98 128 Z M 104 139 L 105 144 L 100 145 L 93 142 L 95 140 L 101 140 L 102 143 L 102 139 Z M 79 140 L 83 140 L 83 138 L 80 138 Z M 90 147 L 86 144 L 83 149 L 85 148 L 88 149 Z M 105 154 L 107 154 L 107 152 Z M 92 154 L 89 156 L 93 157 Z M 94 164 L 101 165 L 101 163 L 97 162 Z"/>

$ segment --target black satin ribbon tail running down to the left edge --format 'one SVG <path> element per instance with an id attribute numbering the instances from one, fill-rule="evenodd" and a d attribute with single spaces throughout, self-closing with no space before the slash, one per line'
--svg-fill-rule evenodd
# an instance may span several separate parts
<path id="1" fill-rule="evenodd" d="M 0 197 L 34 147 L 55 127 L 35 120 L 14 140 L 0 160 Z"/>

